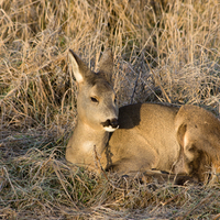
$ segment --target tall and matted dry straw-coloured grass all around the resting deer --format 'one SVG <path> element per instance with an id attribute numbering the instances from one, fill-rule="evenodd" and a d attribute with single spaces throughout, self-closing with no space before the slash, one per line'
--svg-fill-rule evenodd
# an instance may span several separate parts
<path id="1" fill-rule="evenodd" d="M 141 184 L 66 165 L 77 116 L 67 51 L 96 68 L 107 46 L 120 106 L 220 114 L 218 0 L 1 0 L 0 218 L 219 219 L 219 183 Z"/>

